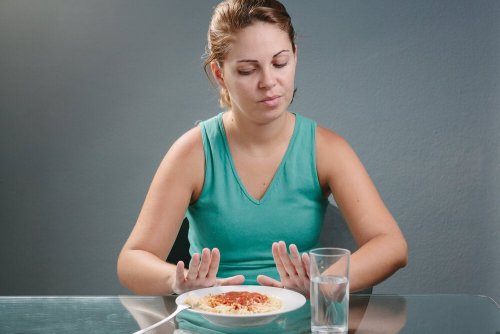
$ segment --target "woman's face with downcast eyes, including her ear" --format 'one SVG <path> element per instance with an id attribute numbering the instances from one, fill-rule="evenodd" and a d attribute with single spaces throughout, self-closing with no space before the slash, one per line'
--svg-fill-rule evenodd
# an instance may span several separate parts
<path id="1" fill-rule="evenodd" d="M 286 32 L 256 22 L 234 36 L 215 77 L 228 90 L 234 113 L 266 122 L 282 115 L 292 101 L 296 60 Z"/>

